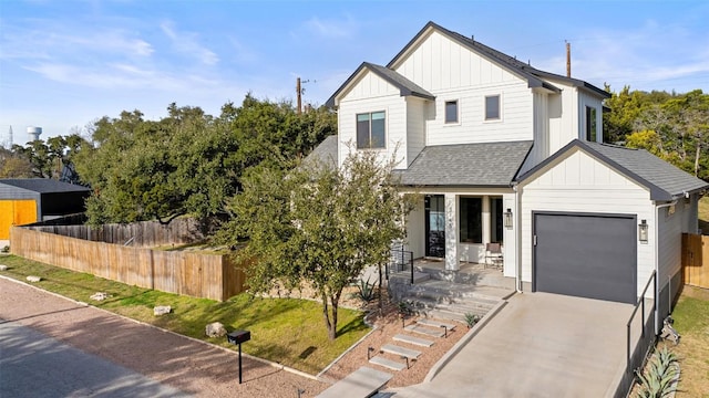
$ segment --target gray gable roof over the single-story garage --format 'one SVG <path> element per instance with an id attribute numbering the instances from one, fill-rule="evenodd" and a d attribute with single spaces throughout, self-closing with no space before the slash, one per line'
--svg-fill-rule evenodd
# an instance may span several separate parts
<path id="1" fill-rule="evenodd" d="M 709 182 L 685 172 L 645 149 L 588 143 L 579 139 L 574 139 L 556 154 L 546 158 L 523 176 L 520 176 L 517 181 L 523 182 L 530 179 L 545 166 L 567 154 L 572 154 L 575 149 L 584 150 L 618 172 L 633 179 L 638 185 L 647 188 L 650 191 L 651 200 L 676 200 L 686 193 L 695 193 L 709 188 Z"/>

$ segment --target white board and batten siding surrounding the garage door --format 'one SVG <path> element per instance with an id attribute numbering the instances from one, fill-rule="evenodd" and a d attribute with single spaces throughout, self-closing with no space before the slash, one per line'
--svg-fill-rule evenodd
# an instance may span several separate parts
<path id="1" fill-rule="evenodd" d="M 518 187 L 522 195 L 522 280 L 532 282 L 533 211 L 631 214 L 649 223 L 649 241 L 637 247 L 637 294 L 655 269 L 655 207 L 647 189 L 576 150 L 537 171 Z"/>

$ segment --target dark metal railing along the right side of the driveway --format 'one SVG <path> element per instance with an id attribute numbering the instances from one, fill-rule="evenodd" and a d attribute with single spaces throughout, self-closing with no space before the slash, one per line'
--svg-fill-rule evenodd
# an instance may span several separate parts
<path id="1" fill-rule="evenodd" d="M 635 305 L 635 310 L 633 310 L 633 315 L 628 320 L 626 325 L 626 368 L 623 374 L 623 379 L 618 385 L 615 396 L 616 397 L 627 397 L 633 387 L 633 383 L 635 381 L 635 370 L 643 367 L 645 364 L 645 359 L 647 358 L 647 354 L 650 348 L 655 345 L 657 339 L 657 335 L 655 334 L 655 311 L 650 311 L 649 314 L 645 313 L 645 296 L 647 294 L 648 287 L 650 287 L 650 282 L 653 283 L 653 292 L 657 293 L 657 273 L 653 271 L 653 274 L 648 279 L 645 284 L 645 289 L 643 290 L 643 294 L 638 298 L 638 303 Z M 657 297 L 655 297 L 657 300 Z M 637 315 L 638 308 L 640 308 L 640 341 L 638 345 L 633 349 L 633 321 L 635 320 L 635 315 Z"/>

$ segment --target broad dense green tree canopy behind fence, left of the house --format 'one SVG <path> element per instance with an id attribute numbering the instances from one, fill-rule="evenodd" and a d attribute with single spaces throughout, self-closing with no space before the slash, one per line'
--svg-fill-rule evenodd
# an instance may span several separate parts
<path id="1" fill-rule="evenodd" d="M 326 109 L 298 117 L 288 103 L 250 94 L 240 107 L 225 104 L 218 117 L 176 104 L 167 112 L 160 121 L 134 111 L 95 122 L 92 145 L 75 156 L 76 171 L 94 189 L 90 223 L 212 220 L 246 169 L 307 154 L 336 126 Z"/>

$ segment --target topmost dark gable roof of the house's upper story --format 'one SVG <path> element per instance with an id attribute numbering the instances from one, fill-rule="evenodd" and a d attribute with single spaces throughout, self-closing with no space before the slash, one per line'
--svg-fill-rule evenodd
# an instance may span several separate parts
<path id="1" fill-rule="evenodd" d="M 466 38 L 460 33 L 450 31 L 432 21 L 427 23 L 425 27 L 423 27 L 423 29 L 421 29 L 421 31 L 419 31 L 419 33 L 413 39 L 411 39 L 411 41 L 387 64 L 387 67 L 395 69 L 394 66 L 399 63 L 399 61 L 401 61 L 401 59 L 419 41 L 419 39 L 424 34 L 427 34 L 431 29 L 441 32 L 442 34 L 446 35 L 449 39 L 480 54 L 481 56 L 499 64 L 500 66 L 506 69 L 507 71 L 526 78 L 528 87 L 544 87 L 556 93 L 561 92 L 558 87 L 545 81 L 545 78 L 552 78 L 552 80 L 564 82 L 575 87 L 585 88 L 604 98 L 610 97 L 610 94 L 608 92 L 606 92 L 605 90 L 598 88 L 593 84 L 589 84 L 587 82 L 584 82 L 577 78 L 566 77 L 566 76 L 557 75 L 554 73 L 540 71 L 535 67 L 532 67 L 532 65 L 528 63 L 518 61 L 514 56 L 504 54 L 483 43 L 476 42 L 471 38 Z"/>

